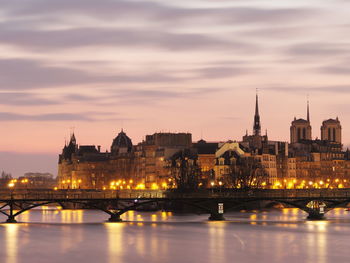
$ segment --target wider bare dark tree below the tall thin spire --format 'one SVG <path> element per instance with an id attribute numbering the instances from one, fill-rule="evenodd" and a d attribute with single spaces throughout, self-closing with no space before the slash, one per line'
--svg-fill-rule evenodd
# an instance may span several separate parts
<path id="1" fill-rule="evenodd" d="M 231 165 L 228 180 L 233 188 L 256 189 L 261 188 L 263 182 L 268 181 L 268 173 L 258 159 L 239 157 Z"/>

